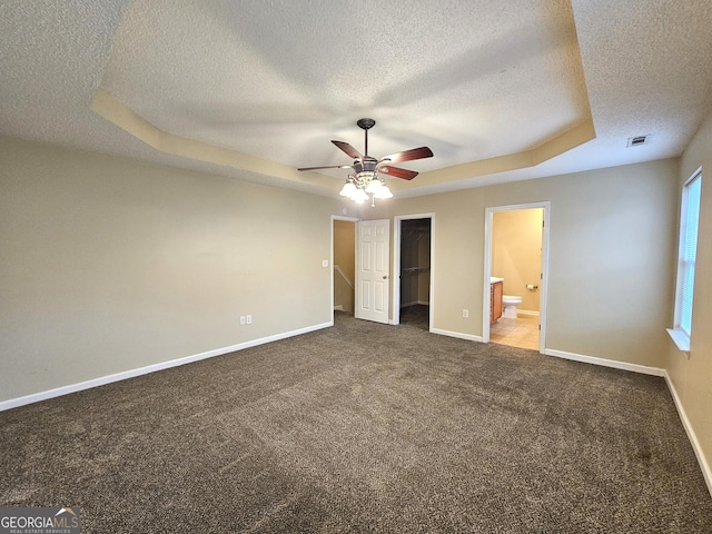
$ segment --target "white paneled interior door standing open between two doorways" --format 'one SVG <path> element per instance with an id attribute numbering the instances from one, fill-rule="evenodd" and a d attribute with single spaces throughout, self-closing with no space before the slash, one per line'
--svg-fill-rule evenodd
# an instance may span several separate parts
<path id="1" fill-rule="evenodd" d="M 359 319 L 388 323 L 389 245 L 388 219 L 358 222 L 355 316 Z"/>

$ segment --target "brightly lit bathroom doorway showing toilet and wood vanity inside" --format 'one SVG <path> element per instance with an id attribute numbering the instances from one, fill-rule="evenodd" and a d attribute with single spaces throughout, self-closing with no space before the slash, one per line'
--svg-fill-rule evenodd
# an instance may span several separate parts
<path id="1" fill-rule="evenodd" d="M 548 202 L 487 209 L 483 340 L 544 352 L 547 216 Z"/>

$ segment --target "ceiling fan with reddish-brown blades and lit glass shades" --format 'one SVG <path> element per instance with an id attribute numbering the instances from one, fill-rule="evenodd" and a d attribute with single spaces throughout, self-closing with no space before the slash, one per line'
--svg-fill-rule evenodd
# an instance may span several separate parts
<path id="1" fill-rule="evenodd" d="M 340 195 L 348 196 L 356 201 L 363 201 L 368 199 L 369 194 L 373 195 L 373 198 L 393 197 L 393 194 L 388 190 L 383 177 L 379 175 L 387 175 L 394 178 L 402 178 L 404 180 L 412 180 L 418 176 L 415 170 L 402 169 L 400 167 L 394 167 L 390 164 L 413 161 L 415 159 L 431 158 L 433 156 L 433 151 L 429 148 L 419 147 L 390 154 L 380 159 L 376 159 L 373 156 L 368 156 L 368 130 L 376 125 L 376 121 L 374 119 L 359 119 L 356 121 L 356 125 L 364 130 L 365 154 L 360 154 L 348 142 L 332 141 L 339 149 L 346 152 L 346 155 L 354 158 L 354 162 L 352 165 L 301 167 L 297 170 L 352 169 L 353 172 L 348 175 Z"/>

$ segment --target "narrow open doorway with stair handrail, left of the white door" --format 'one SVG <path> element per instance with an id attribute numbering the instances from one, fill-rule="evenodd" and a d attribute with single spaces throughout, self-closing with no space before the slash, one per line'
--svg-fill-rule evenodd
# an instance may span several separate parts
<path id="1" fill-rule="evenodd" d="M 333 219 L 332 228 L 332 304 L 334 313 L 354 315 L 356 221 L 350 218 Z"/>

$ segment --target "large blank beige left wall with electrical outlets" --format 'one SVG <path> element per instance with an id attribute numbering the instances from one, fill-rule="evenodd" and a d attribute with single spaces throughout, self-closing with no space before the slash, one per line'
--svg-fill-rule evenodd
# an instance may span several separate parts
<path id="1" fill-rule="evenodd" d="M 9 138 L 0 161 L 0 400 L 330 322 L 336 200 Z"/>

